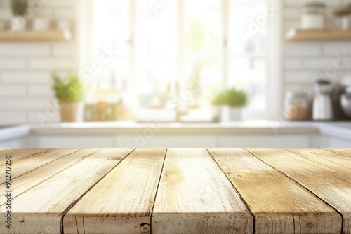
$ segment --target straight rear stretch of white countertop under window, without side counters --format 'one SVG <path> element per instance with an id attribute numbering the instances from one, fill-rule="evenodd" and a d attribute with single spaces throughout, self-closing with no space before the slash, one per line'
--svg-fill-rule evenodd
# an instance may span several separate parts
<path id="1" fill-rule="evenodd" d="M 310 122 L 238 121 L 223 123 L 135 123 L 133 121 L 106 123 L 56 123 L 33 125 L 34 134 L 133 134 L 135 130 L 152 129 L 159 134 L 277 134 L 312 133 L 319 128 Z"/>

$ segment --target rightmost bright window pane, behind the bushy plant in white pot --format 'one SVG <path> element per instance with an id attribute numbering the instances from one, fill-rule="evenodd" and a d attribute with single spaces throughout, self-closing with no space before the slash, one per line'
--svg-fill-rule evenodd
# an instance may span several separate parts
<path id="1" fill-rule="evenodd" d="M 230 0 L 229 78 L 227 84 L 249 92 L 249 109 L 263 110 L 266 106 L 266 34 L 259 27 L 251 34 L 249 27 L 265 6 L 265 0 Z M 249 33 L 251 36 L 247 36 Z"/>

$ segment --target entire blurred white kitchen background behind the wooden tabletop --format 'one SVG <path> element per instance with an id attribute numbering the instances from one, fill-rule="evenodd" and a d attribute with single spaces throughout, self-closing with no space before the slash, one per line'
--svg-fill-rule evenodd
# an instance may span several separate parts
<path id="1" fill-rule="evenodd" d="M 351 1 L 0 0 L 0 111 L 8 147 L 351 146 Z"/>

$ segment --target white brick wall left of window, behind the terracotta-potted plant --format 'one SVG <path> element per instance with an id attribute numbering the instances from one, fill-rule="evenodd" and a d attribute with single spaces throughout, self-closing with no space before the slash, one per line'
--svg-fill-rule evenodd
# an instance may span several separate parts
<path id="1" fill-rule="evenodd" d="M 0 0 L 0 19 L 11 11 Z M 37 17 L 71 20 L 77 15 L 78 1 L 51 0 Z M 30 25 L 30 24 L 29 24 Z M 77 41 L 0 42 L 0 125 L 38 123 L 37 114 L 46 113 L 53 103 L 51 74 L 78 71 Z M 57 122 L 60 116 L 51 118 Z"/>

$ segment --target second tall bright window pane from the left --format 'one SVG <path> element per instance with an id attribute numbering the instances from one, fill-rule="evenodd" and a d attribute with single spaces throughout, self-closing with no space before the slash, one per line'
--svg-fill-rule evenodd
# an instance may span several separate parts
<path id="1" fill-rule="evenodd" d="M 168 84 L 176 79 L 176 3 L 155 13 L 149 1 L 136 1 L 136 53 L 139 106 L 164 107 Z"/>

